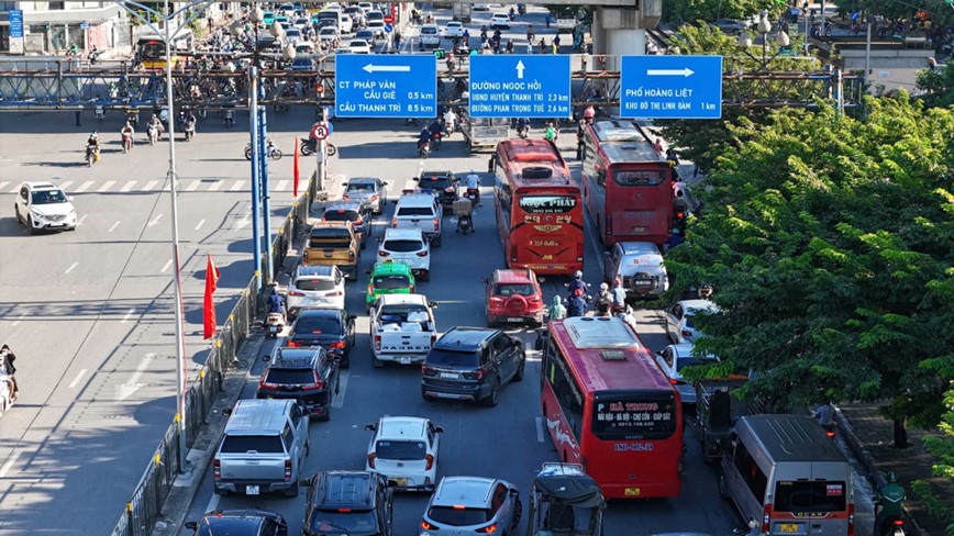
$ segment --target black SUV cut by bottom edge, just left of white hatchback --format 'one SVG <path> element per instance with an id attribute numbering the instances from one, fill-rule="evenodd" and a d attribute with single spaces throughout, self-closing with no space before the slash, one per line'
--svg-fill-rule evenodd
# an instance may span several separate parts
<path id="1" fill-rule="evenodd" d="M 390 536 L 393 489 L 374 471 L 322 471 L 311 480 L 304 504 L 303 536 L 347 534 Z"/>

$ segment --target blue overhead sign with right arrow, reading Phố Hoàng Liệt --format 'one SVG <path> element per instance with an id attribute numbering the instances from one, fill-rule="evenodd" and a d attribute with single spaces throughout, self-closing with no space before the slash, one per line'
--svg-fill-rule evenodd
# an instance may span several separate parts
<path id="1" fill-rule="evenodd" d="M 620 115 L 722 116 L 722 56 L 623 56 Z"/>

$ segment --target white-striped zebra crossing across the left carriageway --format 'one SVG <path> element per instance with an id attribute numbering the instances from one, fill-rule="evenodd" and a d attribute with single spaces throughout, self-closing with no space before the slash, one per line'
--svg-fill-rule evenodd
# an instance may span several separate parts
<path id="1" fill-rule="evenodd" d="M 106 180 L 102 182 L 96 180 L 58 180 L 52 179 L 51 182 L 59 186 L 67 194 L 74 193 L 144 193 L 158 192 L 166 189 L 165 180 Z M 0 193 L 16 193 L 20 189 L 20 181 L 0 180 Z M 293 183 L 290 180 L 275 180 L 270 185 L 273 192 L 291 192 Z M 306 185 L 300 185 L 299 189 Z M 252 181 L 243 179 L 179 179 L 179 192 L 241 192 L 251 191 Z"/>

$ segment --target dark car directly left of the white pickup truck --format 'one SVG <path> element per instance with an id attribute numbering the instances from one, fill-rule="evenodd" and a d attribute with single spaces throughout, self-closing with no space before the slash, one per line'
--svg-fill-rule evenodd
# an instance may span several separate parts
<path id="1" fill-rule="evenodd" d="M 302 309 L 291 324 L 286 344 L 292 348 L 321 346 L 341 357 L 341 368 L 351 368 L 354 316 L 343 309 Z"/>

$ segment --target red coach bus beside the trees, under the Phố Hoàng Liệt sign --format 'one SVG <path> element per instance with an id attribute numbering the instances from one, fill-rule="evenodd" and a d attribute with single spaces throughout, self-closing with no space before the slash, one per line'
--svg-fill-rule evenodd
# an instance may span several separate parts
<path id="1" fill-rule="evenodd" d="M 586 127 L 583 197 L 603 244 L 663 244 L 673 226 L 669 163 L 630 121 L 598 121 Z"/>

